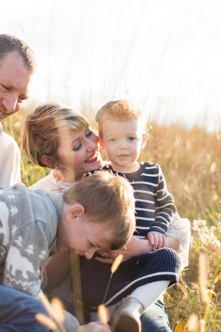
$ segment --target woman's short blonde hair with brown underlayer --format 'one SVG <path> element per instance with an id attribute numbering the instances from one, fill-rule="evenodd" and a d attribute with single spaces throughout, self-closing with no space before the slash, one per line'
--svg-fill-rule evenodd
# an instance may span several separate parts
<path id="1" fill-rule="evenodd" d="M 27 158 L 41 167 L 41 156 L 53 156 L 53 167 L 59 162 L 59 131 L 62 127 L 81 131 L 89 126 L 79 111 L 60 103 L 51 102 L 38 106 L 27 115 L 22 134 L 22 150 Z"/>

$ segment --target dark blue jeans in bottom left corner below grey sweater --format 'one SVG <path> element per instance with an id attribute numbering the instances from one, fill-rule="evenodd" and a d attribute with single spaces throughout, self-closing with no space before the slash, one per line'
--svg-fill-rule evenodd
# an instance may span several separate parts
<path id="1" fill-rule="evenodd" d="M 39 300 L 13 288 L 0 286 L 1 332 L 49 332 L 50 329 L 36 321 L 37 313 L 48 316 Z"/>

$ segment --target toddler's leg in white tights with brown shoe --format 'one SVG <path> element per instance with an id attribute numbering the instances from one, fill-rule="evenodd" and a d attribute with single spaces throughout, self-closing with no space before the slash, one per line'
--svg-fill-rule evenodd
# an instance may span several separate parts
<path id="1" fill-rule="evenodd" d="M 169 280 L 147 283 L 135 289 L 119 306 L 111 323 L 112 331 L 140 332 L 140 315 L 167 289 Z"/>

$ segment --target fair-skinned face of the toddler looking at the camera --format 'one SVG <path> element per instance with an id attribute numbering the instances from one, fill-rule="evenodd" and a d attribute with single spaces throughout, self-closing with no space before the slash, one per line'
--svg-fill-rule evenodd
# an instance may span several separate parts
<path id="1" fill-rule="evenodd" d="M 115 171 L 132 173 L 138 170 L 137 159 L 146 141 L 140 121 L 108 117 L 102 123 L 102 141 Z"/>

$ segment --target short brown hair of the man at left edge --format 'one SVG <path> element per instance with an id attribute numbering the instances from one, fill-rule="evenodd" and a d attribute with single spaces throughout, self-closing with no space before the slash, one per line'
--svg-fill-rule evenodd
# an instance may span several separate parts
<path id="1" fill-rule="evenodd" d="M 3 60 L 9 53 L 18 52 L 24 65 L 32 72 L 37 70 L 37 59 L 30 48 L 30 46 L 23 40 L 7 34 L 0 35 L 0 61 Z"/>

